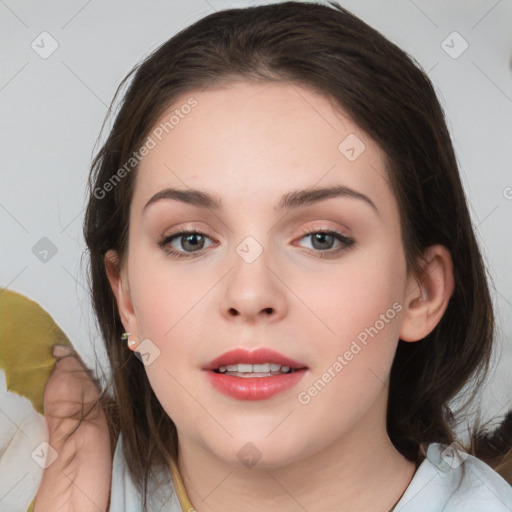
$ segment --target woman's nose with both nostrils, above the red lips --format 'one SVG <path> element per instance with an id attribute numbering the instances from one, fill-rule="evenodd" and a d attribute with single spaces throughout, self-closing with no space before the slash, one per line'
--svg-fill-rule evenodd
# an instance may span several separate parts
<path id="1" fill-rule="evenodd" d="M 264 250 L 259 257 L 248 262 L 238 254 L 233 268 L 224 280 L 221 314 L 228 320 L 246 323 L 275 322 L 287 314 L 286 286 L 275 264 L 269 266 Z"/>

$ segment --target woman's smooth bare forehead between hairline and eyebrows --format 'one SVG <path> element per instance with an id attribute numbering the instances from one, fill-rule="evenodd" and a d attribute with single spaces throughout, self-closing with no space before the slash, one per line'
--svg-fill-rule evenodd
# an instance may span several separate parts
<path id="1" fill-rule="evenodd" d="M 184 94 L 149 133 L 154 147 L 137 170 L 134 208 L 165 187 L 201 188 L 227 204 L 332 184 L 391 195 L 383 151 L 333 106 L 285 82 Z"/>

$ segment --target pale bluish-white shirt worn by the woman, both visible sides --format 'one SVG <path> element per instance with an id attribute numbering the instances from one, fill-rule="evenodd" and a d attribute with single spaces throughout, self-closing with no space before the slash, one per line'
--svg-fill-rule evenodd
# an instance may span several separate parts
<path id="1" fill-rule="evenodd" d="M 119 436 L 110 512 L 142 512 L 141 496 L 128 474 L 121 443 Z M 512 487 L 487 464 L 457 446 L 429 445 L 425 460 L 393 512 L 512 512 Z M 162 467 L 149 485 L 149 512 L 182 512 L 167 467 Z"/>

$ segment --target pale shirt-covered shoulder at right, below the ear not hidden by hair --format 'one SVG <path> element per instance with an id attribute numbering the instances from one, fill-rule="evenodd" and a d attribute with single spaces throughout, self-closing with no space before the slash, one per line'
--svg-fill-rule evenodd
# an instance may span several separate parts
<path id="1" fill-rule="evenodd" d="M 432 443 L 393 512 L 511 512 L 512 487 L 457 444 Z"/>

